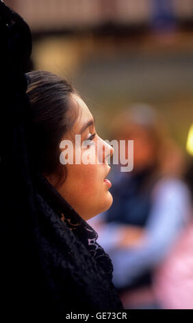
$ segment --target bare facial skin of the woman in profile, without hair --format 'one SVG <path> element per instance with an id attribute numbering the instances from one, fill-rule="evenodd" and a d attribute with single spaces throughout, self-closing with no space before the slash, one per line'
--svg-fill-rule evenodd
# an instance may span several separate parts
<path id="1" fill-rule="evenodd" d="M 70 96 L 70 107 L 72 110 L 79 109 L 79 117 L 75 121 L 72 131 L 66 133 L 63 140 L 73 142 L 74 161 L 73 164 L 62 166 L 66 168 L 66 179 L 62 186 L 56 189 L 84 220 L 88 220 L 104 212 L 112 205 L 112 194 L 108 191 L 110 185 L 105 183 L 104 179 L 107 177 L 108 172 L 110 172 L 110 166 L 107 164 L 107 155 L 113 154 L 113 148 L 97 135 L 92 114 L 83 100 L 76 94 Z M 90 146 L 81 146 L 81 156 L 89 152 L 90 157 L 94 158 L 95 164 L 83 164 L 82 161 L 81 164 L 75 164 L 75 134 L 80 134 L 83 126 L 91 120 L 93 124 L 81 133 L 81 143 L 84 140 L 88 140 L 94 133 L 96 135 L 89 141 L 91 143 Z M 103 144 L 101 151 L 103 160 L 100 159 L 102 164 L 99 164 L 99 152 L 97 153 L 98 140 L 100 144 Z M 93 142 L 94 144 L 92 144 Z M 62 151 L 64 149 L 61 148 Z M 47 177 L 47 179 L 55 186 L 54 174 Z"/>

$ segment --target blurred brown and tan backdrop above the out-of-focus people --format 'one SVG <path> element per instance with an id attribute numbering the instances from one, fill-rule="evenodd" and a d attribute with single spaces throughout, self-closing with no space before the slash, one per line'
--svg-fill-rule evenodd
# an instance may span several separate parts
<path id="1" fill-rule="evenodd" d="M 185 147 L 193 116 L 192 0 L 6 0 L 33 32 L 35 69 L 64 74 L 96 113 L 162 111 Z M 99 121 L 99 122 L 98 122 Z"/>

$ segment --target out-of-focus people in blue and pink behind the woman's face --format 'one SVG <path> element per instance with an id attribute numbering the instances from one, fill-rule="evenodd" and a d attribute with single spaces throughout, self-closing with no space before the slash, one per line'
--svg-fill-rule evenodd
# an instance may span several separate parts
<path id="1" fill-rule="evenodd" d="M 126 309 L 193 309 L 192 159 L 145 104 L 116 116 L 112 138 L 133 140 L 134 168 L 112 165 L 114 202 L 89 223 L 114 285 Z"/>

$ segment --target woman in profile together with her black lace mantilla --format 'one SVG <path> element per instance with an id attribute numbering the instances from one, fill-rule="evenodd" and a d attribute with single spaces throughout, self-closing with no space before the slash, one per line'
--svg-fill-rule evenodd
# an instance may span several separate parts
<path id="1" fill-rule="evenodd" d="M 70 311 L 123 309 L 112 262 L 86 222 L 112 205 L 106 179 L 112 148 L 66 80 L 44 71 L 23 73 L 31 53 L 29 27 L 2 1 L 0 18 L 2 311 L 14 319 L 27 313 L 26 322 L 39 313 L 65 319 Z M 67 164 L 61 163 L 64 140 L 73 159 Z M 103 144 L 101 164 L 97 142 Z M 83 162 L 88 152 L 94 164 Z"/>

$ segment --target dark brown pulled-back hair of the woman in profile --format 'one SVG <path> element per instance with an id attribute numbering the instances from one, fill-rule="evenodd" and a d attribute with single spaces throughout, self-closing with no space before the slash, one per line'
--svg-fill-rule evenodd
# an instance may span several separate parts
<path id="1" fill-rule="evenodd" d="M 69 99 L 77 93 L 70 82 L 48 71 L 31 71 L 27 96 L 30 101 L 28 150 L 32 166 L 44 176 L 58 175 L 57 186 L 66 178 L 60 164 L 60 142 L 77 119 Z"/>

